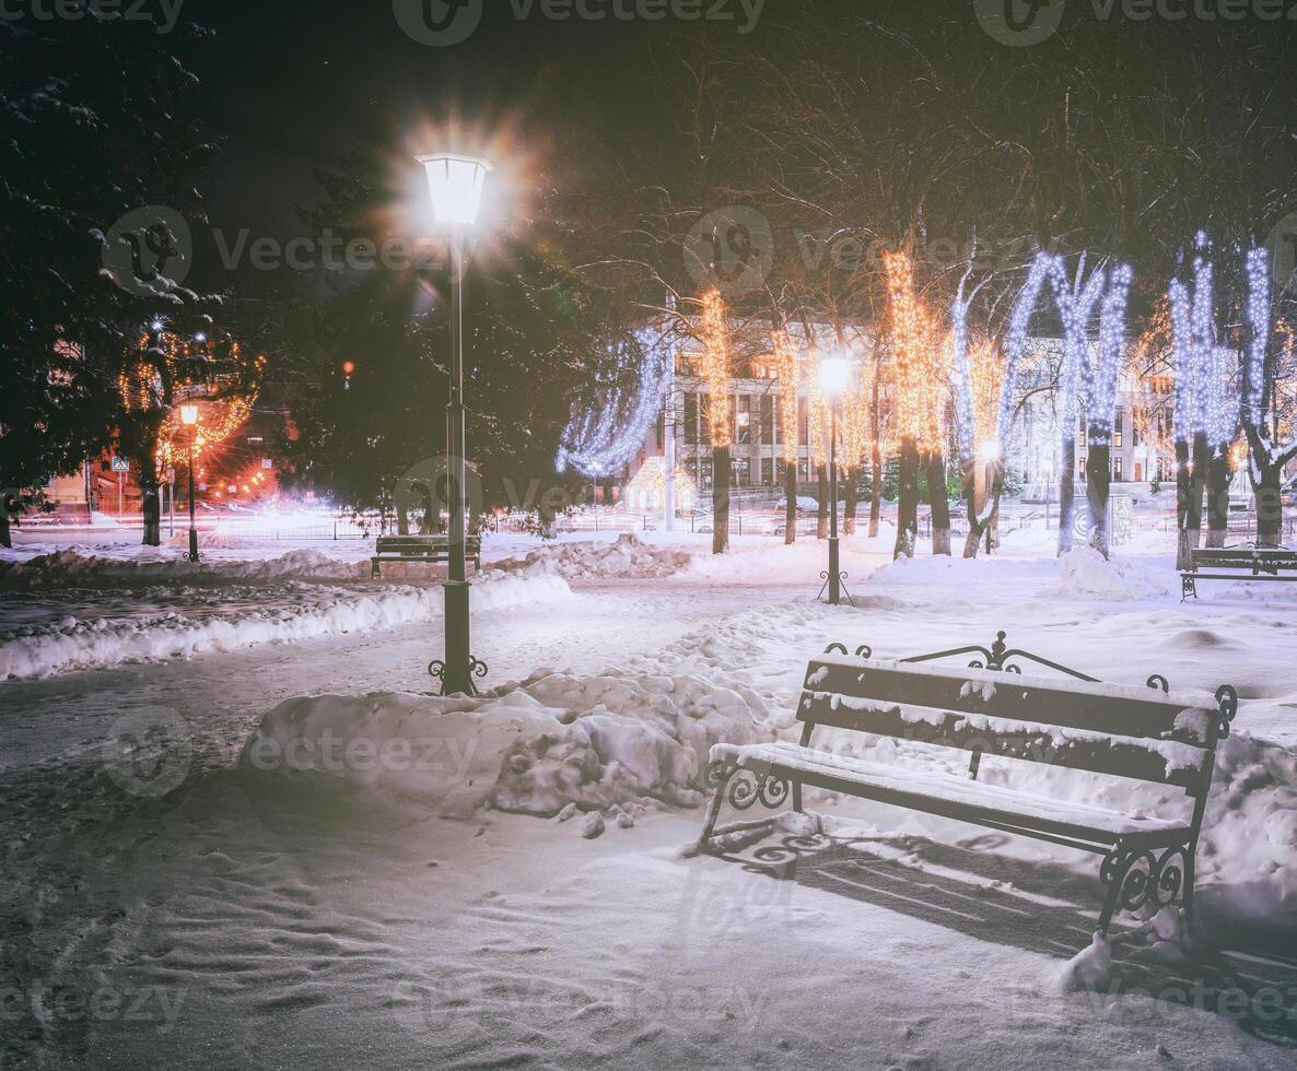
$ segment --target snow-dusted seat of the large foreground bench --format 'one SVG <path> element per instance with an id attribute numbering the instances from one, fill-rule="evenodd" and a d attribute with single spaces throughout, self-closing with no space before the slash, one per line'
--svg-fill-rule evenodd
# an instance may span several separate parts
<path id="1" fill-rule="evenodd" d="M 803 784 L 844 791 L 912 810 L 1036 830 L 1093 844 L 1113 844 L 1118 838 L 1171 842 L 1188 831 L 1180 821 L 1122 814 L 1093 804 L 1053 800 L 951 774 L 850 759 L 790 743 L 716 744 L 711 759 L 776 775 L 792 775 Z"/>

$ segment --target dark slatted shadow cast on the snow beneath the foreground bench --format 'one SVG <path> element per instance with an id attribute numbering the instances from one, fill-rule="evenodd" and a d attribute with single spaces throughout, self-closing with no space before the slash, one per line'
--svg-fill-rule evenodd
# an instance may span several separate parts
<path id="1" fill-rule="evenodd" d="M 720 858 L 751 871 L 752 880 L 765 877 L 796 882 L 981 941 L 1049 957 L 1058 961 L 1061 970 L 1093 937 L 1102 886 L 1097 877 L 1079 878 L 1060 864 L 999 854 L 996 849 L 1008 842 L 994 832 L 958 844 L 913 835 L 785 835 Z M 900 862 L 898 856 L 916 860 L 917 865 Z M 969 880 L 934 869 L 964 874 Z M 1297 935 L 1266 927 L 1249 930 L 1214 918 L 1213 905 L 1224 897 L 1213 893 L 1210 886 L 1198 888 L 1198 909 L 1208 917 L 1209 932 L 1220 936 L 1214 944 L 1198 937 L 1191 956 L 1180 962 L 1156 953 L 1132 935 L 1136 921 L 1118 915 L 1112 982 L 1097 989 L 1089 987 L 1088 996 L 1100 1002 L 1092 1004 L 1093 1010 L 1105 1014 L 1115 1000 L 1135 995 L 1169 995 L 1165 1002 L 1184 1006 L 1185 998 L 1172 995 L 1196 992 L 1201 998 L 1195 1006 L 1205 1013 L 1297 1049 Z M 1240 991 L 1248 997 L 1244 1011 L 1235 1006 Z M 1275 993 L 1281 995 L 1281 1009 L 1275 1007 Z"/>

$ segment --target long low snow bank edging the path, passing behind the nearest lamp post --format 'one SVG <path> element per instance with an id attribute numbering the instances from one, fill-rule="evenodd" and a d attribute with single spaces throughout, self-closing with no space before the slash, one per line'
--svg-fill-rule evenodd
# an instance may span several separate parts
<path id="1" fill-rule="evenodd" d="M 554 576 L 489 572 L 473 580 L 475 609 L 555 602 L 571 594 L 567 583 Z M 195 617 L 174 611 L 131 617 L 69 615 L 51 624 L 25 625 L 0 633 L 0 679 L 367 633 L 442 615 L 440 587 L 393 586 L 374 594 L 320 587 L 315 595 L 315 602 L 301 606 L 258 607 L 219 616 Z"/>

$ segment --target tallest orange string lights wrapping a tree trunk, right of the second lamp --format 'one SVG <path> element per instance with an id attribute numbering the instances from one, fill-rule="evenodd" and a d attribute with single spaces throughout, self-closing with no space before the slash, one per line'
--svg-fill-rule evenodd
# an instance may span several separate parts
<path id="1" fill-rule="evenodd" d="M 914 263 L 908 253 L 885 252 L 883 270 L 896 350 L 896 436 L 933 453 L 944 443 L 946 415 L 934 318 L 914 293 Z"/>

